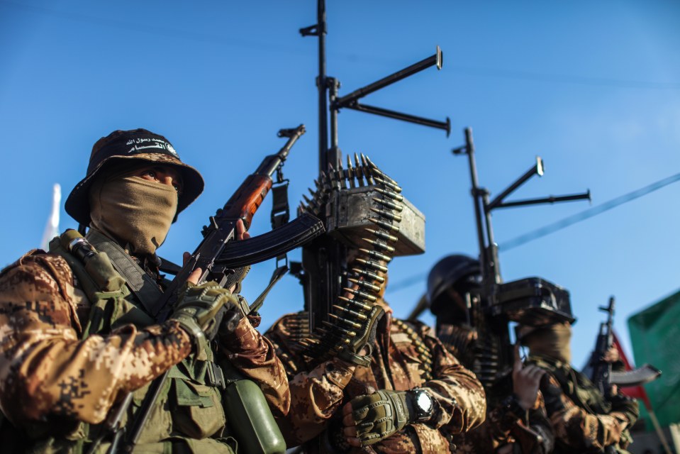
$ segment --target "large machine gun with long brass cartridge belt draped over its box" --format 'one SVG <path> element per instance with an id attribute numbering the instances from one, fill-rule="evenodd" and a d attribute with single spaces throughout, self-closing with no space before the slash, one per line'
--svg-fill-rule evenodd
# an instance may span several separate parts
<path id="1" fill-rule="evenodd" d="M 416 123 L 450 133 L 451 122 L 369 106 L 360 102 L 406 77 L 430 67 L 442 68 L 442 51 L 383 77 L 372 84 L 339 94 L 340 81 L 325 72 L 325 0 L 317 0 L 317 22 L 301 28 L 302 36 L 318 38 L 319 177 L 311 198 L 299 212 L 323 218 L 327 235 L 308 243 L 302 261 L 291 264 L 303 285 L 308 321 L 299 320 L 299 338 L 307 354 L 318 360 L 335 355 L 354 338 L 384 286 L 387 262 L 395 255 L 424 252 L 425 219 L 401 196 L 401 188 L 364 155 L 347 156 L 342 167 L 338 143 L 338 114 L 342 109 L 362 111 Z M 359 257 L 348 260 L 347 254 Z M 346 293 L 353 295 L 346 298 Z M 344 299 L 343 299 L 344 298 Z M 302 316 L 302 314 L 301 314 Z M 315 334 L 316 333 L 316 334 Z M 313 344 L 313 345 L 311 345 Z"/>

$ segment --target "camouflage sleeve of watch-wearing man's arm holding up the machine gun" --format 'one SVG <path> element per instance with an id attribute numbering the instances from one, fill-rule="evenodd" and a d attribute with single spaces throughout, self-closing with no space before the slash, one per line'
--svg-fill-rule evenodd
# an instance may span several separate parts
<path id="1" fill-rule="evenodd" d="M 315 438 L 325 430 L 342 404 L 345 387 L 352 379 L 355 366 L 333 359 L 307 370 L 303 358 L 296 355 L 293 345 L 289 345 L 288 323 L 294 323 L 292 316 L 284 316 L 274 323 L 266 336 L 277 345 L 277 355 L 286 360 L 291 408 L 277 422 L 286 443 L 294 446 Z"/>

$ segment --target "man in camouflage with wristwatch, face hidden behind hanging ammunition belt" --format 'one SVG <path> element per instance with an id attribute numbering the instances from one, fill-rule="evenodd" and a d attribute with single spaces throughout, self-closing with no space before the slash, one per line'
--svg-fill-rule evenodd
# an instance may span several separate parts
<path id="1" fill-rule="evenodd" d="M 265 334 L 289 373 L 291 411 L 279 419 L 289 445 L 315 454 L 448 453 L 450 434 L 484 421 L 484 389 L 474 374 L 431 328 L 394 318 L 381 298 L 377 304 L 385 314 L 368 367 L 340 358 L 315 365 L 303 355 L 306 312 L 282 317 Z"/>

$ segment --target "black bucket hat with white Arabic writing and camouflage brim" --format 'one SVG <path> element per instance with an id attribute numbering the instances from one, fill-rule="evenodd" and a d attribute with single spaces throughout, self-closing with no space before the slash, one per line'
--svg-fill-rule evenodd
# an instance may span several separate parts
<path id="1" fill-rule="evenodd" d="M 96 141 L 92 147 L 87 175 L 73 188 L 66 199 L 66 212 L 84 226 L 90 223 L 89 189 L 98 175 L 103 175 L 111 165 L 126 160 L 144 160 L 169 165 L 182 175 L 182 193 L 179 194 L 177 213 L 184 210 L 203 192 L 203 177 L 198 170 L 184 164 L 167 138 L 146 129 L 113 131 Z M 132 165 L 133 162 L 130 162 Z M 177 216 L 175 216 L 175 220 Z"/>

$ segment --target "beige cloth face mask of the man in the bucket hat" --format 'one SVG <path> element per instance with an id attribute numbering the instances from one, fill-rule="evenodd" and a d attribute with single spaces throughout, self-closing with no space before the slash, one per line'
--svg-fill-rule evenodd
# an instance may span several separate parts
<path id="1" fill-rule="evenodd" d="M 91 226 L 135 255 L 155 253 L 177 213 L 174 187 L 142 177 L 99 179 L 89 195 Z"/>

